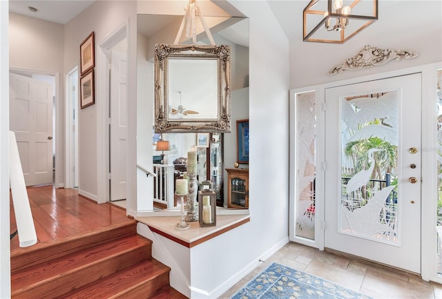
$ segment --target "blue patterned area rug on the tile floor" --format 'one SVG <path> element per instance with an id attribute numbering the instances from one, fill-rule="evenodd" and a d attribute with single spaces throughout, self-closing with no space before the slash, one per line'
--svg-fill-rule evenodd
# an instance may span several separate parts
<path id="1" fill-rule="evenodd" d="M 371 299 L 311 274 L 273 262 L 242 287 L 231 299 Z"/>

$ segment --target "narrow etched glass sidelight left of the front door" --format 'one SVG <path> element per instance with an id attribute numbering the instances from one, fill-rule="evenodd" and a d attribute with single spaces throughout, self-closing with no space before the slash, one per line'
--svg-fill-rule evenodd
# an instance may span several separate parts
<path id="1" fill-rule="evenodd" d="M 316 94 L 299 93 L 296 117 L 296 237 L 315 239 L 316 212 Z"/>

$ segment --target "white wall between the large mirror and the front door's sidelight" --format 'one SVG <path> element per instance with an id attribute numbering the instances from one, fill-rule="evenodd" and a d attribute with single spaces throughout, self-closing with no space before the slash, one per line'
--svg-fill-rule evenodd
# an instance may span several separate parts
<path id="1" fill-rule="evenodd" d="M 230 3 L 250 26 L 251 221 L 191 248 L 192 298 L 220 296 L 288 242 L 289 166 L 273 157 L 288 157 L 289 42 L 267 2 Z"/>

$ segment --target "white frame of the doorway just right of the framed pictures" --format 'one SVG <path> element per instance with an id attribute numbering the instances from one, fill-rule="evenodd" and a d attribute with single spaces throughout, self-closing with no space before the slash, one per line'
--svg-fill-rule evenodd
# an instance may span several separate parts
<path id="1" fill-rule="evenodd" d="M 109 34 L 103 41 L 99 42 L 97 55 L 97 91 L 98 95 L 101 95 L 105 101 L 97 101 L 97 202 L 102 204 L 108 202 L 110 199 L 109 194 L 109 129 L 108 129 L 108 111 L 109 111 L 109 77 L 108 65 L 109 58 L 111 56 L 110 50 L 113 46 L 117 45 L 119 41 L 127 39 L 127 45 L 129 45 L 129 26 L 128 21 L 125 21 L 116 28 L 111 34 Z M 128 49 L 126 50 L 126 59 L 128 59 Z M 128 73 L 128 72 L 127 72 Z M 127 96 L 128 98 L 128 96 Z M 129 117 L 128 117 L 129 119 Z M 129 151 L 127 151 L 129 153 Z M 128 157 L 126 157 L 126 165 L 128 165 Z"/>

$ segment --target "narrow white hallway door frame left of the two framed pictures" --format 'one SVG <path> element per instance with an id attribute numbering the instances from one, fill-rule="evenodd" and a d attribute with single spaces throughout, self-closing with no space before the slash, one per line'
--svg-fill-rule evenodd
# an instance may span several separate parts
<path id="1" fill-rule="evenodd" d="M 78 66 L 71 68 L 66 74 L 65 79 L 65 115 L 64 115 L 64 134 L 65 134 L 65 188 L 74 188 L 75 186 L 75 175 L 78 175 L 78 115 L 79 115 L 79 105 L 78 96 L 73 98 L 70 88 L 73 86 L 70 84 L 70 77 L 77 72 L 77 77 L 79 77 Z M 79 84 L 77 80 L 77 95 Z M 73 119 L 74 113 L 74 103 L 75 103 L 75 121 Z M 73 148 L 73 146 L 75 148 Z M 73 171 L 75 167 L 75 171 Z"/>

